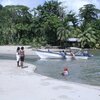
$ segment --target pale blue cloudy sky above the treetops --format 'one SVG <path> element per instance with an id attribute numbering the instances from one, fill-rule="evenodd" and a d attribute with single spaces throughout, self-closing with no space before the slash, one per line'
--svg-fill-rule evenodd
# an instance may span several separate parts
<path id="1" fill-rule="evenodd" d="M 43 4 L 48 0 L 0 0 L 0 4 L 5 5 L 25 5 L 29 8 L 37 7 L 39 4 Z M 78 12 L 78 9 L 85 4 L 94 4 L 97 8 L 100 9 L 100 0 L 58 0 L 63 2 L 63 6 L 67 7 L 69 10 Z"/>

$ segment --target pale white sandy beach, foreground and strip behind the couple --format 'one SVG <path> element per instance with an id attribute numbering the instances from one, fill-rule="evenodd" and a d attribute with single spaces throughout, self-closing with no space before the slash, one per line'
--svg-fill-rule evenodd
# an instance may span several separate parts
<path id="1" fill-rule="evenodd" d="M 25 47 L 25 54 L 33 55 Z M 17 46 L 0 46 L 1 54 L 15 54 Z M 0 60 L 0 100 L 100 100 L 100 87 L 65 82 L 34 73 L 36 66 L 16 67 L 16 60 Z"/>

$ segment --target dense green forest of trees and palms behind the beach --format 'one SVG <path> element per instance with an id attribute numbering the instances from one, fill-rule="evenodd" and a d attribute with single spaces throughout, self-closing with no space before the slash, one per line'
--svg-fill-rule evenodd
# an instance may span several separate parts
<path id="1" fill-rule="evenodd" d="M 79 14 L 67 11 L 62 2 L 45 1 L 29 9 L 23 5 L 0 5 L 0 45 L 66 46 L 79 38 L 81 48 L 100 48 L 100 9 L 84 5 Z"/>

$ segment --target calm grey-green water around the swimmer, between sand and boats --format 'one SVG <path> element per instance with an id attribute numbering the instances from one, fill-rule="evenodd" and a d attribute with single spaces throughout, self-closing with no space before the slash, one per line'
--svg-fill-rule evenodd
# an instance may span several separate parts
<path id="1" fill-rule="evenodd" d="M 92 51 L 94 57 L 88 60 L 60 60 L 60 59 L 38 59 L 36 55 L 26 56 L 26 61 L 37 66 L 36 73 L 53 77 L 64 81 L 73 81 L 100 86 L 100 52 Z M 2 59 L 14 59 L 14 55 L 1 55 Z M 61 75 L 64 67 L 69 69 L 69 75 Z"/>

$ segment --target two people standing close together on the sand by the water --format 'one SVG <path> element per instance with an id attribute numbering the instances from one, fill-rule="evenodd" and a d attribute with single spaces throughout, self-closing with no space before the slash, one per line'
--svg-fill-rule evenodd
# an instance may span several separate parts
<path id="1" fill-rule="evenodd" d="M 17 47 L 17 50 L 16 50 L 17 67 L 23 68 L 24 58 L 25 58 L 24 47 L 23 46 L 21 48 Z"/>

